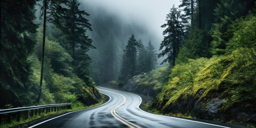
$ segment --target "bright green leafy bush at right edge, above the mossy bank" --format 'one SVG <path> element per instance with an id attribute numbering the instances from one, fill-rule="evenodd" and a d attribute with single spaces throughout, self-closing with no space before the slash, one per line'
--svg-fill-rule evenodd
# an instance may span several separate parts
<path id="1" fill-rule="evenodd" d="M 237 58 L 239 66 L 250 66 L 256 60 L 256 17 L 249 15 L 230 26 L 233 37 L 227 43 L 227 52 Z M 244 57 L 243 57 L 244 55 Z"/>

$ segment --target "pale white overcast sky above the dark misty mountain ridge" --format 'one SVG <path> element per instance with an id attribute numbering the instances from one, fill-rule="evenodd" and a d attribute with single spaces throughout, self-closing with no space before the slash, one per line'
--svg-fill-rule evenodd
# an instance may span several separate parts
<path id="1" fill-rule="evenodd" d="M 178 6 L 180 0 L 80 0 L 94 10 L 104 9 L 122 20 L 137 23 L 155 35 L 159 43 L 163 39 L 163 25 L 166 14 L 173 4 Z M 90 13 L 90 12 L 89 12 Z"/>

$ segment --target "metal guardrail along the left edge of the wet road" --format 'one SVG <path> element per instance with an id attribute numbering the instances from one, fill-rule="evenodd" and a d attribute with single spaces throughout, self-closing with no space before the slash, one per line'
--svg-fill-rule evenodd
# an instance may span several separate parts
<path id="1" fill-rule="evenodd" d="M 43 113 L 47 114 L 53 111 L 60 111 L 62 109 L 71 109 L 71 105 L 72 103 L 61 103 L 42 106 L 0 109 L 0 124 L 3 122 L 10 123 L 14 118 L 16 121 L 20 121 L 20 118 L 28 119 Z"/>

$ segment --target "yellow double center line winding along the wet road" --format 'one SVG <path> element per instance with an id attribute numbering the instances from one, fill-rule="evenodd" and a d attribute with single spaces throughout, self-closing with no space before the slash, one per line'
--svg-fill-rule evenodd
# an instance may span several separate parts
<path id="1" fill-rule="evenodd" d="M 98 89 L 98 90 L 102 90 L 102 89 Z M 107 91 L 107 90 L 103 90 L 103 91 Z M 111 91 L 107 91 L 107 92 L 111 92 Z M 124 105 L 124 103 L 126 102 L 126 97 L 124 97 L 124 95 L 119 94 L 119 93 L 116 93 L 116 92 L 111 92 L 111 93 L 115 93 L 115 94 L 121 95 L 121 96 L 124 98 L 124 101 L 123 101 L 120 105 L 116 106 L 115 108 L 113 108 L 113 109 L 111 110 L 111 114 L 112 114 L 116 119 L 118 119 L 118 121 L 124 123 L 125 125 L 127 125 L 127 126 L 129 126 L 129 127 L 131 127 L 131 128 L 134 128 L 134 127 L 141 128 L 140 126 L 138 126 L 138 125 L 136 125 L 136 124 L 134 124 L 134 123 L 132 123 L 132 122 L 127 121 L 125 118 L 119 116 L 119 115 L 116 113 L 116 109 L 119 108 L 119 107 L 121 107 L 122 105 Z"/>

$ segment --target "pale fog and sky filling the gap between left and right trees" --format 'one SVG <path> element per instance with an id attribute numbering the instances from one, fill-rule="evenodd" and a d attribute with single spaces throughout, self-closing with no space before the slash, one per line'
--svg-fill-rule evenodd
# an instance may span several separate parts
<path id="1" fill-rule="evenodd" d="M 87 17 L 93 31 L 88 31 L 93 45 L 91 76 L 98 84 L 117 79 L 122 63 L 125 45 L 131 34 L 146 45 L 149 41 L 159 53 L 159 44 L 163 41 L 163 25 L 166 14 L 175 1 L 80 1 L 81 10 Z M 168 4 L 166 4 L 168 3 Z M 158 66 L 163 58 L 158 59 Z"/>

